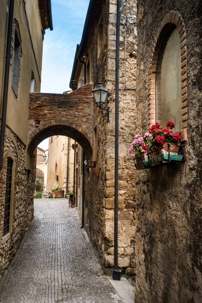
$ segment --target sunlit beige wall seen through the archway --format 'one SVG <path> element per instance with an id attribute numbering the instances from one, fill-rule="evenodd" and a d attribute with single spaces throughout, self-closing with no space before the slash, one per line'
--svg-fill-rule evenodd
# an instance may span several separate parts
<path id="1" fill-rule="evenodd" d="M 53 138 L 53 142 L 52 142 Z M 69 178 L 68 190 L 73 186 L 73 171 L 74 171 L 74 150 L 71 144 L 74 140 L 69 138 Z M 67 176 L 67 151 L 68 151 L 68 138 L 65 136 L 53 136 L 49 138 L 48 150 L 48 169 L 47 169 L 47 192 L 52 188 L 62 186 L 66 192 L 66 176 Z M 55 171 L 57 163 L 57 173 Z M 56 181 L 56 175 L 59 180 Z"/>

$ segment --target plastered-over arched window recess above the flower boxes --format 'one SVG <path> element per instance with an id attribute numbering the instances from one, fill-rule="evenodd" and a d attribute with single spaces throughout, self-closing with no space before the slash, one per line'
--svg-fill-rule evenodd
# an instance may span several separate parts
<path id="1" fill-rule="evenodd" d="M 168 121 L 174 131 L 182 128 L 181 48 L 176 27 L 165 36 L 158 57 L 156 74 L 156 118 L 163 128 Z"/>

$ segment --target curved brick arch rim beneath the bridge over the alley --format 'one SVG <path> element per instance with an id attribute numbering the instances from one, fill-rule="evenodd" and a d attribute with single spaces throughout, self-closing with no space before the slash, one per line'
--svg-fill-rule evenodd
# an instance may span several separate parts
<path id="1" fill-rule="evenodd" d="M 84 149 L 86 157 L 90 159 L 92 155 L 92 147 L 90 144 L 90 138 L 86 131 L 80 125 L 74 125 L 73 123 L 65 123 L 62 121 L 44 123 L 33 131 L 33 133 L 29 135 L 27 153 L 32 156 L 35 148 L 41 141 L 55 135 L 67 136 L 76 140 L 76 142 L 78 142 Z"/>

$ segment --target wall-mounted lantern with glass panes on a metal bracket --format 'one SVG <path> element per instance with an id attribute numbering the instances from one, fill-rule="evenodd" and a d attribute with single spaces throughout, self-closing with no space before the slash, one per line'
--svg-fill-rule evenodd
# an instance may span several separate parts
<path id="1" fill-rule="evenodd" d="M 107 122 L 110 122 L 110 108 L 108 107 L 105 109 L 102 107 L 102 105 L 105 104 L 108 91 L 101 81 L 97 83 L 95 88 L 92 90 L 92 93 L 95 99 L 96 107 L 102 111 L 107 111 Z"/>

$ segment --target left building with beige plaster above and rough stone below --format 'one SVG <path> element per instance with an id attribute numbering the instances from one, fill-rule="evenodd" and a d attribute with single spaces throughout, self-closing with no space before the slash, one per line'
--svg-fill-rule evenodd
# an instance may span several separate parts
<path id="1" fill-rule="evenodd" d="M 8 21 L 14 5 L 11 60 L 4 140 L 0 172 L 0 277 L 15 255 L 33 218 L 34 170 L 27 167 L 29 93 L 40 91 L 43 35 L 52 28 L 46 1 L 3 0 L 0 6 L 0 106 L 3 107 Z M 10 19 L 12 21 L 12 17 Z M 12 27 L 11 27 L 12 28 Z M 5 90 L 6 92 L 6 90 Z M 7 95 L 7 94 L 6 94 Z M 2 115 L 0 122 L 2 123 Z"/>

